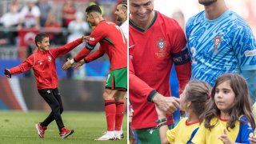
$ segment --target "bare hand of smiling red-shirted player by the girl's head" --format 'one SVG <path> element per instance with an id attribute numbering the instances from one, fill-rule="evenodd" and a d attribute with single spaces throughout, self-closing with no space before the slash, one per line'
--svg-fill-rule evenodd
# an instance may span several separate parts
<path id="1" fill-rule="evenodd" d="M 174 113 L 179 107 L 179 98 L 164 97 L 159 93 L 155 95 L 153 102 L 158 106 L 159 110 L 162 110 L 166 114 Z"/>

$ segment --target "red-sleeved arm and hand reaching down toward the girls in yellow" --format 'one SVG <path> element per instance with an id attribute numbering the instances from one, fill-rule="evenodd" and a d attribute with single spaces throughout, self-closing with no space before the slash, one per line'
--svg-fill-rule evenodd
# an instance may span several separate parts
<path id="1" fill-rule="evenodd" d="M 131 61 L 129 61 L 129 88 L 131 92 L 144 98 L 145 101 L 154 102 L 160 110 L 165 111 L 167 114 L 174 113 L 178 109 L 179 99 L 162 96 L 162 94 L 159 94 L 146 82 L 138 78 L 134 74 L 134 66 Z"/>

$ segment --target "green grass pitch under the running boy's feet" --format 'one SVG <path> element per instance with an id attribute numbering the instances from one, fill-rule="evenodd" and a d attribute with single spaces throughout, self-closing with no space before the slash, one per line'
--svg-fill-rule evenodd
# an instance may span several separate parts
<path id="1" fill-rule="evenodd" d="M 1 144 L 80 144 L 80 143 L 127 143 L 126 115 L 123 120 L 125 138 L 121 141 L 94 141 L 102 136 L 106 130 L 105 113 L 95 112 L 67 112 L 62 114 L 64 125 L 74 129 L 74 134 L 62 139 L 58 135 L 56 122 L 50 123 L 46 130 L 45 138 L 39 138 L 35 124 L 42 122 L 48 112 L 30 111 L 1 111 L 0 110 L 0 143 Z"/>

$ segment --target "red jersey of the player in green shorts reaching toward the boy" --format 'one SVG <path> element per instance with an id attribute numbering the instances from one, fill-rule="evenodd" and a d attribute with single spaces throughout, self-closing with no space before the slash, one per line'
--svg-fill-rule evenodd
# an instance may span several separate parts
<path id="1" fill-rule="evenodd" d="M 113 22 L 102 21 L 90 34 L 90 40 L 86 47 L 74 57 L 76 62 L 87 56 L 88 50 L 92 50 L 97 43 L 100 43 L 100 52 L 90 57 L 94 60 L 106 53 L 110 58 L 110 70 L 117 70 L 127 67 L 127 42 L 122 30 Z"/>

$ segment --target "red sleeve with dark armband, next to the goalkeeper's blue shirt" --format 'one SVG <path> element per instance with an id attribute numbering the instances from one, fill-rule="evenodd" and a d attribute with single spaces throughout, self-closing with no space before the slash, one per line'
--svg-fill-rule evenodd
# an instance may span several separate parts
<path id="1" fill-rule="evenodd" d="M 186 48 L 186 37 L 180 26 L 174 30 L 173 49 L 170 55 L 173 58 L 175 70 L 177 72 L 179 83 L 179 94 L 182 94 L 186 83 L 190 81 L 191 77 L 191 62 L 188 49 Z"/>

